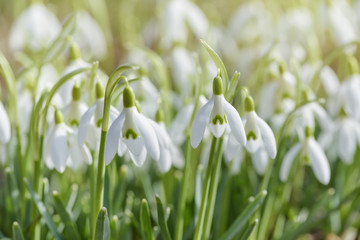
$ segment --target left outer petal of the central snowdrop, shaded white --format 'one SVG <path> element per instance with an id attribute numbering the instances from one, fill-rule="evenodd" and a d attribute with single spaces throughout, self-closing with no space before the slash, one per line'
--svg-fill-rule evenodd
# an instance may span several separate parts
<path id="1" fill-rule="evenodd" d="M 204 131 L 209 122 L 211 110 L 214 106 L 214 98 L 211 98 L 196 114 L 191 128 L 191 146 L 197 148 L 204 136 Z"/>

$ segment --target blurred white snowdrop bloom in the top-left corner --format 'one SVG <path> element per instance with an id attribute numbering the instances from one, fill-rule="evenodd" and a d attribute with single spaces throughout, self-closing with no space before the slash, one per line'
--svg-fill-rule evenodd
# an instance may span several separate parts
<path id="1" fill-rule="evenodd" d="M 52 12 L 43 4 L 32 4 L 12 26 L 9 45 L 14 51 L 24 48 L 39 51 L 48 47 L 60 30 L 61 25 Z"/>

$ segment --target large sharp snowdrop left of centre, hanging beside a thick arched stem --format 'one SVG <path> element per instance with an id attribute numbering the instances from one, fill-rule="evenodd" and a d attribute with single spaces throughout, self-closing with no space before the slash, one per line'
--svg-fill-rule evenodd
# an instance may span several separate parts
<path id="1" fill-rule="evenodd" d="M 123 92 L 124 109 L 111 124 L 106 136 L 106 165 L 110 164 L 114 158 L 115 153 L 121 147 L 121 142 L 126 144 L 132 161 L 138 167 L 144 164 L 146 153 L 149 153 L 156 161 L 160 158 L 161 150 L 157 134 L 161 133 L 156 133 L 153 123 L 138 112 L 135 102 L 133 90 L 129 86 L 125 87 Z"/>

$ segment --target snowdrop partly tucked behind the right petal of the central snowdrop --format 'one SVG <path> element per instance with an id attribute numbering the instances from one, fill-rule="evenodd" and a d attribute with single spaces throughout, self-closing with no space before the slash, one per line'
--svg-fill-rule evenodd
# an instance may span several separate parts
<path id="1" fill-rule="evenodd" d="M 276 141 L 274 133 L 269 125 L 262 120 L 255 112 L 252 97 L 245 98 L 245 114 L 243 122 L 246 132 L 246 149 L 250 153 L 256 153 L 261 145 L 266 149 L 267 154 L 274 159 L 276 157 Z"/>

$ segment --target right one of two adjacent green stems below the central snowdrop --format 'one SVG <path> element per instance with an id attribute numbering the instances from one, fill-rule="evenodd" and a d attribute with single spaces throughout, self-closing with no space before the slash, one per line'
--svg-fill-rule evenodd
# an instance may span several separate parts
<path id="1" fill-rule="evenodd" d="M 214 207 L 216 201 L 216 193 L 219 186 L 220 173 L 221 173 L 221 160 L 222 160 L 222 144 L 223 138 L 220 138 L 217 144 L 217 153 L 215 157 L 215 169 L 212 171 L 211 182 L 210 182 L 210 192 L 209 192 L 209 204 L 207 206 L 207 211 L 205 211 L 205 224 L 204 224 L 204 233 L 205 239 L 209 238 L 210 227 L 212 223 L 212 218 L 214 215 Z"/>

